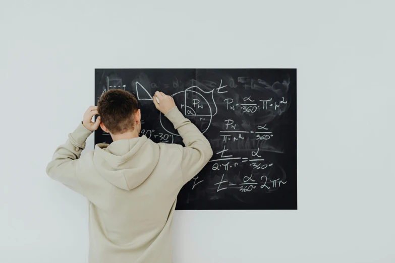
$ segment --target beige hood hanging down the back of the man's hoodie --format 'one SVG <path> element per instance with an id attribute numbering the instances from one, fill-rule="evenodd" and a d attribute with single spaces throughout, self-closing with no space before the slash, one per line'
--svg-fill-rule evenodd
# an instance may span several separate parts
<path id="1" fill-rule="evenodd" d="M 145 135 L 108 144 L 97 144 L 93 164 L 111 184 L 131 190 L 142 184 L 159 160 L 159 146 Z"/>

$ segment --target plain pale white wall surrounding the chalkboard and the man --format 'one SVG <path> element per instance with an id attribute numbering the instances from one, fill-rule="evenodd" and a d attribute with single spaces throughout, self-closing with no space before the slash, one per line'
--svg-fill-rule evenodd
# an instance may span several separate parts
<path id="1" fill-rule="evenodd" d="M 298 69 L 298 210 L 178 211 L 176 263 L 395 262 L 391 1 L 58 2 L 1 3 L 1 262 L 87 262 L 45 166 L 95 68 L 178 67 Z"/>

